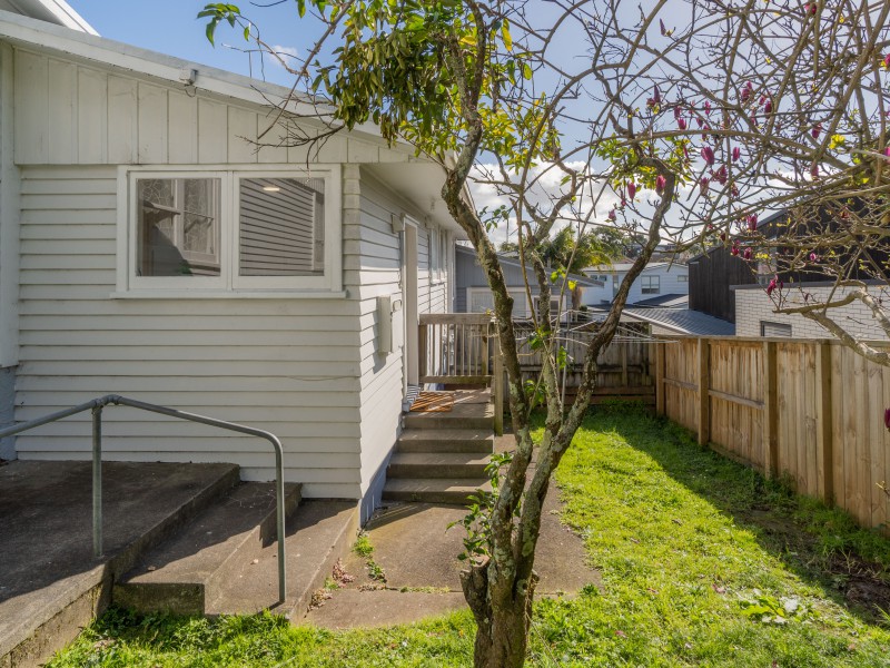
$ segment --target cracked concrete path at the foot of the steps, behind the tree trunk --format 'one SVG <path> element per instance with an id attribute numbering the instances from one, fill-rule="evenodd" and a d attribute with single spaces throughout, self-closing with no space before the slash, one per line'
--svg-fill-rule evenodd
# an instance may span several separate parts
<path id="1" fill-rule="evenodd" d="M 504 436 L 495 448 L 508 449 L 512 442 Z M 538 596 L 575 593 L 601 582 L 586 566 L 581 538 L 560 522 L 561 508 L 558 489 L 551 488 L 535 558 Z M 465 532 L 459 525 L 447 529 L 465 514 L 461 507 L 429 503 L 393 503 L 380 510 L 366 527 L 373 554 L 349 553 L 343 570 L 355 579 L 318 592 L 318 605 L 303 622 L 330 629 L 387 626 L 465 608 L 459 580 L 464 564 L 457 559 Z M 379 569 L 376 579 L 368 559 Z"/>

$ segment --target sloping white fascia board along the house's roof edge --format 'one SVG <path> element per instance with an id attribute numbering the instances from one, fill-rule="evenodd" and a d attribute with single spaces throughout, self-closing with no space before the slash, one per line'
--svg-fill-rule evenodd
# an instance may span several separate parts
<path id="1" fill-rule="evenodd" d="M 287 99 L 291 90 L 266 81 L 250 79 L 214 67 L 165 56 L 96 35 L 53 26 L 12 12 L 0 11 L 0 39 L 41 51 L 55 51 L 95 61 L 108 68 L 129 70 L 181 86 L 182 70 L 197 70 L 195 86 L 211 94 L 273 107 Z M 289 101 L 286 110 L 298 115 L 317 115 L 319 106 Z M 364 132 L 363 132 L 364 134 Z M 375 136 L 379 140 L 379 135 Z"/>

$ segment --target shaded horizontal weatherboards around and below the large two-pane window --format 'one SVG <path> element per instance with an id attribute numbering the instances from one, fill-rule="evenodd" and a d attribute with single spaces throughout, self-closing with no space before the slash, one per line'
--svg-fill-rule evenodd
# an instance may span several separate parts
<path id="1" fill-rule="evenodd" d="M 17 420 L 123 394 L 269 430 L 305 495 L 359 497 L 359 302 L 111 298 L 117 169 L 21 176 Z M 355 235 L 346 207 L 344 219 Z M 19 456 L 88 459 L 89 421 L 20 435 Z M 109 460 L 226 461 L 248 480 L 274 477 L 265 441 L 206 425 L 112 407 L 103 435 Z"/>

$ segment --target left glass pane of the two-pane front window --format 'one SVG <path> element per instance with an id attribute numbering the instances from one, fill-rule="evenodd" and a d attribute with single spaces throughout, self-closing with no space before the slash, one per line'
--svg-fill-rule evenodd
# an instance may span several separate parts
<path id="1" fill-rule="evenodd" d="M 218 178 L 137 179 L 137 276 L 219 276 Z"/>

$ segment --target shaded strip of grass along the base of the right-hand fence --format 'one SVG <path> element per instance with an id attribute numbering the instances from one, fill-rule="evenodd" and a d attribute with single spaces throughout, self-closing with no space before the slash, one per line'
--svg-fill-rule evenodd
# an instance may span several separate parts
<path id="1" fill-rule="evenodd" d="M 803 581 L 867 622 L 890 611 L 890 539 L 860 528 L 844 511 L 793 493 L 787 481 L 702 448 L 691 433 L 634 406 L 602 406 L 586 429 L 614 432 L 674 481 L 750 531 L 759 546 Z"/>

